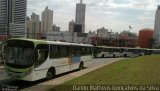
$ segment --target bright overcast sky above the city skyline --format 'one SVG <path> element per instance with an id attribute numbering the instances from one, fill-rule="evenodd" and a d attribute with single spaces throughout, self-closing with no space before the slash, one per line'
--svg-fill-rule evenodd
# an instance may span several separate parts
<path id="1" fill-rule="evenodd" d="M 75 19 L 76 3 L 80 0 L 27 0 L 27 15 L 41 15 L 46 6 L 54 11 L 53 23 L 62 31 Z M 160 0 L 83 0 L 86 3 L 86 32 L 101 27 L 120 32 L 132 26 L 133 32 L 154 28 L 154 18 Z"/>

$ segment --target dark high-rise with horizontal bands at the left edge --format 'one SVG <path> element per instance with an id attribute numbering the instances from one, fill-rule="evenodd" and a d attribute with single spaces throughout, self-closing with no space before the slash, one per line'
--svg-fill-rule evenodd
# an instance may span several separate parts
<path id="1" fill-rule="evenodd" d="M 26 36 L 27 0 L 0 0 L 0 35 Z"/>

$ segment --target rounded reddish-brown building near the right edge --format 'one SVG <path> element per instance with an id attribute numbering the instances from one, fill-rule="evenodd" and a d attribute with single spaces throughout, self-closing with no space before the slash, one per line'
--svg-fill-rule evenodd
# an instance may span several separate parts
<path id="1" fill-rule="evenodd" d="M 139 31 L 138 46 L 141 48 L 152 48 L 153 29 L 142 29 Z"/>

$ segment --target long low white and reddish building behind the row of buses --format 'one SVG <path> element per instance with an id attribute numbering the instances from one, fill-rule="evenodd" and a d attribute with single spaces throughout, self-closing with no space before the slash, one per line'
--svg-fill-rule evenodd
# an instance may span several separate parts
<path id="1" fill-rule="evenodd" d="M 99 29 L 98 29 L 99 30 Z M 99 36 L 104 33 L 104 36 Z M 112 46 L 112 47 L 137 47 L 138 37 L 135 33 L 123 31 L 120 34 L 108 32 L 108 29 L 101 28 L 99 33 L 75 33 L 69 31 L 48 31 L 46 39 L 50 41 L 62 41 L 69 43 L 85 43 L 96 46 Z"/>

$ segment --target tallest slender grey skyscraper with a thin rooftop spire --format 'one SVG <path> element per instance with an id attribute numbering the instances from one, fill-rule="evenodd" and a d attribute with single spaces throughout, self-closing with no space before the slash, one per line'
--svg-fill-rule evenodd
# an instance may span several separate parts
<path id="1" fill-rule="evenodd" d="M 78 26 L 81 26 L 82 33 L 85 32 L 85 12 L 86 12 L 86 4 L 82 3 L 82 0 L 80 0 L 80 3 L 76 5 L 76 17 L 75 17 L 75 23 Z"/>

